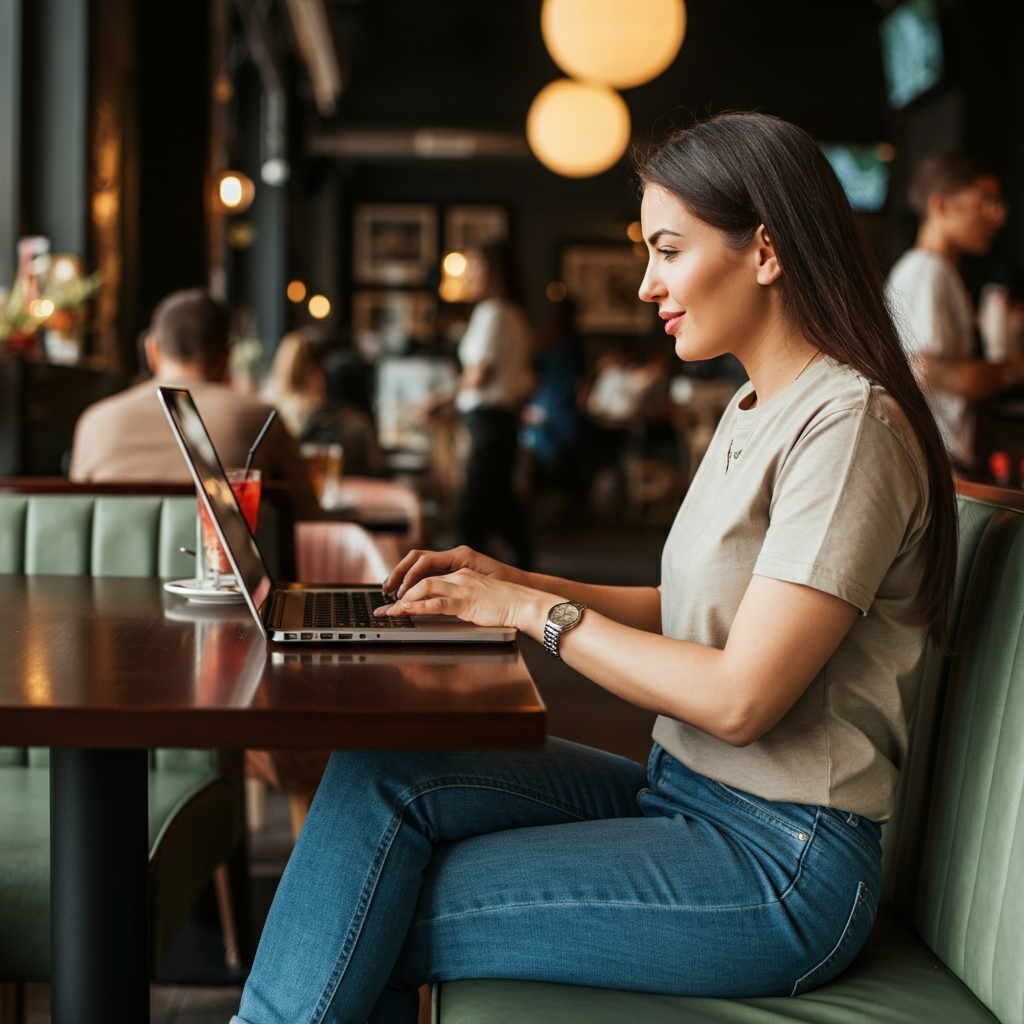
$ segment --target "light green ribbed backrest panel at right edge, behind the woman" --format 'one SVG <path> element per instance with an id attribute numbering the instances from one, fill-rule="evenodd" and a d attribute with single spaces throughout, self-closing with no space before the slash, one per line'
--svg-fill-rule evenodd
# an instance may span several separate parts
<path id="1" fill-rule="evenodd" d="M 1024 1024 L 1024 515 L 992 516 L 949 671 L 913 924 L 1002 1024 Z"/>

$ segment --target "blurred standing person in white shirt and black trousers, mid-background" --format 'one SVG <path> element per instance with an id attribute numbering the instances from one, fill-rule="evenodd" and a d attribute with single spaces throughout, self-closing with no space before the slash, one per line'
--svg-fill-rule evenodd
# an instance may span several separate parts
<path id="1" fill-rule="evenodd" d="M 489 535 L 497 534 L 511 549 L 512 563 L 528 568 L 526 516 L 512 477 L 519 410 L 532 388 L 532 339 L 510 247 L 486 247 L 481 263 L 483 297 L 459 343 L 462 377 L 455 403 L 470 442 L 459 529 L 477 550 L 486 550 Z"/>

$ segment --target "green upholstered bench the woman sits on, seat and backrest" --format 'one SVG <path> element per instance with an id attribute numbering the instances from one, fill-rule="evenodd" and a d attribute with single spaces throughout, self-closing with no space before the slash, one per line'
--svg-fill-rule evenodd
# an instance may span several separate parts
<path id="1" fill-rule="evenodd" d="M 1024 1024 L 1024 515 L 958 506 L 953 657 L 927 655 L 886 900 L 849 970 L 759 999 L 451 981 L 435 1024 Z"/>

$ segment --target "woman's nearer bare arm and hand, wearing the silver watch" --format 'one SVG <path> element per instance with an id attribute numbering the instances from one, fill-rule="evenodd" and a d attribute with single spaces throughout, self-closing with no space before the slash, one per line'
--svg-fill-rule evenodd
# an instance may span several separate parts
<path id="1" fill-rule="evenodd" d="M 549 609 L 568 597 L 463 568 L 421 581 L 388 611 L 515 626 L 543 641 Z M 831 594 L 756 575 L 723 650 L 654 636 L 591 609 L 562 634 L 560 652 L 567 665 L 631 703 L 745 746 L 793 707 L 857 614 Z"/>

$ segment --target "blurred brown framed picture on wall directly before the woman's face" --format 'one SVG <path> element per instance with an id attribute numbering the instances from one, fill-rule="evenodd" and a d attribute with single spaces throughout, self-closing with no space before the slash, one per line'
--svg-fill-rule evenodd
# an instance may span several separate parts
<path id="1" fill-rule="evenodd" d="M 571 245 L 562 250 L 562 282 L 584 334 L 647 334 L 654 307 L 641 302 L 646 258 L 630 245 Z"/>

